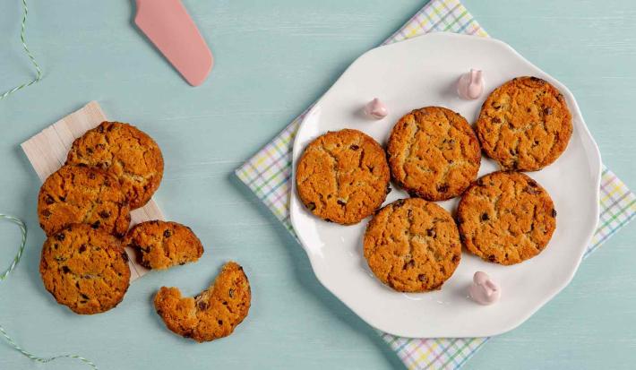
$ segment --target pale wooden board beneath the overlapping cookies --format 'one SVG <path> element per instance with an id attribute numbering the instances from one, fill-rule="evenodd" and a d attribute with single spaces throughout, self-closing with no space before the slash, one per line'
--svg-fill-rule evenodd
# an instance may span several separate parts
<path id="1" fill-rule="evenodd" d="M 96 101 L 91 101 L 80 110 L 65 116 L 55 124 L 48 126 L 40 133 L 21 143 L 22 151 L 27 155 L 31 166 L 39 179 L 44 180 L 64 165 L 66 153 L 71 149 L 73 141 L 91 128 L 107 121 Z M 150 219 L 164 219 L 157 203 L 150 200 L 146 205 L 131 211 L 131 227 Z M 128 254 L 131 280 L 137 280 L 149 270 L 137 263 L 135 252 L 126 248 Z"/>

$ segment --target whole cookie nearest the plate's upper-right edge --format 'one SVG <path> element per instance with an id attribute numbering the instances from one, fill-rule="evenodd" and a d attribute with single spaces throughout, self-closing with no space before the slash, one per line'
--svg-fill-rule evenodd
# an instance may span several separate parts
<path id="1" fill-rule="evenodd" d="M 559 158 L 572 136 L 572 115 L 559 90 L 537 77 L 495 89 L 481 108 L 477 136 L 504 170 L 537 171 Z"/>

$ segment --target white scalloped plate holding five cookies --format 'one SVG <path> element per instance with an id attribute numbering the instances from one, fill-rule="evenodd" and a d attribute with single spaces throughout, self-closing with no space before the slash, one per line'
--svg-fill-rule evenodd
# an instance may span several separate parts
<path id="1" fill-rule="evenodd" d="M 470 68 L 484 71 L 486 94 L 482 99 L 457 97 L 455 82 Z M 292 181 L 291 221 L 316 277 L 366 323 L 411 338 L 485 337 L 523 323 L 565 288 L 579 267 L 597 227 L 600 153 L 576 100 L 561 82 L 502 41 L 454 33 L 428 34 L 365 53 L 305 116 L 294 142 L 294 171 L 306 144 L 327 131 L 354 128 L 384 144 L 400 116 L 425 106 L 451 108 L 474 122 L 487 93 L 522 75 L 541 77 L 561 90 L 572 110 L 574 126 L 563 155 L 551 166 L 529 173 L 551 194 L 558 216 L 546 250 L 527 262 L 500 266 L 464 253 L 457 271 L 441 290 L 419 294 L 393 291 L 374 278 L 363 257 L 362 236 L 368 219 L 355 226 L 317 219 L 297 199 L 296 181 Z M 374 97 L 382 99 L 390 110 L 381 121 L 359 113 Z M 494 162 L 484 159 L 479 176 L 495 169 Z M 386 202 L 408 196 L 391 187 L 393 192 Z M 441 204 L 454 211 L 457 199 Z M 501 284 L 499 303 L 482 306 L 468 299 L 475 271 L 486 271 Z"/>

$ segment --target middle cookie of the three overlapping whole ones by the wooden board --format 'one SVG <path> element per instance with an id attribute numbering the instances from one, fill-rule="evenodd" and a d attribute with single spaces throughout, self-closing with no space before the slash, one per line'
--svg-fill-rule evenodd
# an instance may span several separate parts
<path id="1" fill-rule="evenodd" d="M 116 178 L 85 166 L 66 165 L 48 176 L 39 189 L 38 216 L 47 236 L 85 223 L 123 237 L 130 224 L 128 202 Z"/>

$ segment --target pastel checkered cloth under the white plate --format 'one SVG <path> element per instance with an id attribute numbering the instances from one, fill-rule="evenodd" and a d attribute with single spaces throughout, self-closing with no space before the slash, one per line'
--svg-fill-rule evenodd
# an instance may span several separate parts
<path id="1" fill-rule="evenodd" d="M 382 45 L 440 30 L 488 36 L 459 0 L 433 0 Z M 291 151 L 302 119 L 303 115 L 298 116 L 272 142 L 236 169 L 236 176 L 254 191 L 295 237 L 289 221 Z M 600 210 L 597 233 L 585 257 L 636 215 L 636 197 L 607 168 L 603 169 L 601 180 Z M 488 340 L 408 339 L 386 333 L 381 335 L 409 369 L 457 369 Z"/>

